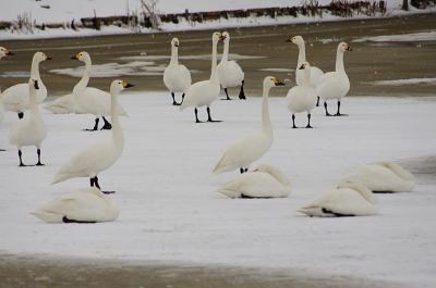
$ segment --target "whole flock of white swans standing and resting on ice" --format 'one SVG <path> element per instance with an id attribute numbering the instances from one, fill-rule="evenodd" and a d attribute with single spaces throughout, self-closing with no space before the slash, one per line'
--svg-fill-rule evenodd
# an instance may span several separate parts
<path id="1" fill-rule="evenodd" d="M 217 64 L 218 42 L 223 41 L 223 53 Z M 306 112 L 307 125 L 311 126 L 311 111 L 324 100 L 327 116 L 327 101 L 336 99 L 340 113 L 340 101 L 350 89 L 350 82 L 344 71 L 343 53 L 351 51 L 346 42 L 337 48 L 336 71 L 323 73 L 312 66 L 305 55 L 303 37 L 295 36 L 287 39 L 299 48 L 299 58 L 295 71 L 296 86 L 286 96 L 286 107 L 292 114 L 292 127 L 295 126 L 295 114 Z M 210 105 L 218 98 L 223 88 L 226 99 L 231 100 L 227 88 L 240 87 L 239 98 L 244 95 L 244 73 L 235 61 L 229 61 L 229 33 L 216 32 L 211 36 L 211 68 L 210 77 L 206 80 L 192 84 L 189 68 L 179 63 L 178 38 L 171 40 L 171 60 L 164 73 L 164 84 L 172 97 L 172 104 L 180 105 L 180 110 L 193 107 L 195 122 L 198 120 L 198 108 L 206 107 L 207 122 L 219 122 L 211 118 Z M 0 47 L 0 59 L 12 53 Z M 26 166 L 22 161 L 22 147 L 35 146 L 38 162 L 40 149 L 47 136 L 46 126 L 38 110 L 47 97 L 47 88 L 39 75 L 39 63 L 51 58 L 43 52 L 34 54 L 28 83 L 14 85 L 1 93 L 0 124 L 3 110 L 19 114 L 10 132 L 10 142 L 17 148 L 20 166 Z M 61 196 L 38 210 L 32 212 L 47 223 L 95 223 L 114 221 L 119 215 L 119 208 L 110 199 L 113 191 L 101 191 L 98 174 L 112 166 L 123 151 L 124 137 L 119 116 L 125 115 L 124 109 L 118 102 L 118 96 L 125 88 L 133 85 L 124 80 L 113 80 L 110 92 L 88 87 L 92 72 L 89 53 L 83 51 L 72 59 L 85 63 L 85 71 L 80 82 L 74 86 L 72 93 L 58 98 L 46 105 L 46 109 L 58 113 L 85 113 L 95 116 L 95 124 L 90 130 L 98 130 L 99 118 L 102 118 L 101 129 L 110 129 L 110 138 L 90 145 L 71 158 L 52 179 L 57 184 L 74 177 L 88 177 L 89 188 L 80 189 Z M 250 171 L 253 162 L 259 160 L 271 147 L 274 134 L 268 108 L 268 95 L 272 87 L 284 86 L 278 78 L 268 76 L 263 82 L 262 95 L 262 128 L 252 134 L 242 136 L 227 146 L 219 161 L 213 168 L 213 174 L 239 170 L 240 174 L 231 181 L 220 186 L 217 191 L 230 198 L 283 198 L 291 192 L 291 180 L 283 172 L 271 165 L 259 165 Z M 175 100 L 175 93 L 181 93 L 181 100 Z M 26 111 L 29 112 L 26 112 Z M 111 123 L 106 118 L 110 116 Z M 337 183 L 336 189 L 322 192 L 316 199 L 299 211 L 310 216 L 358 216 L 375 214 L 378 209 L 377 192 L 404 192 L 414 186 L 411 173 L 392 162 L 377 162 L 360 167 L 356 172 L 343 176 Z"/>

